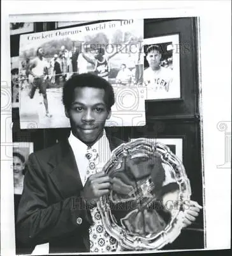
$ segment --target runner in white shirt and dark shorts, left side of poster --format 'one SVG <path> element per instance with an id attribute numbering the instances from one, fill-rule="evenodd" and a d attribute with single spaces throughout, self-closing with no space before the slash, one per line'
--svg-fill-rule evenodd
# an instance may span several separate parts
<path id="1" fill-rule="evenodd" d="M 47 100 L 47 78 L 48 78 L 48 67 L 49 64 L 44 58 L 43 48 L 39 47 L 36 52 L 37 57 L 31 61 L 29 68 L 30 75 L 33 76 L 32 88 L 29 93 L 29 97 L 33 99 L 36 88 L 40 89 L 40 93 L 43 95 L 43 103 L 45 105 L 46 116 L 52 117 L 48 111 L 48 100 Z"/>

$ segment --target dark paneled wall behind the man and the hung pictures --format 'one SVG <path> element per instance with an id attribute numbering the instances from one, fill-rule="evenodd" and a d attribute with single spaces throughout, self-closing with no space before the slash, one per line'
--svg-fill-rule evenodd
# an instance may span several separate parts
<path id="1" fill-rule="evenodd" d="M 104 21 L 106 20 L 85 24 Z M 83 26 L 83 24 L 78 26 Z M 54 30 L 55 27 L 55 22 L 34 22 L 34 32 Z M 77 26 L 65 28 L 71 27 Z M 145 127 L 108 127 L 106 132 L 126 141 L 129 138 L 140 138 L 141 136 L 182 138 L 183 163 L 191 182 L 191 198 L 203 205 L 196 28 L 196 18 L 144 20 L 144 38 L 178 33 L 183 49 L 189 49 L 189 51 L 180 52 L 181 99 L 147 100 Z M 19 55 L 19 39 L 20 35 L 10 36 L 11 57 Z M 34 151 L 54 145 L 69 134 L 69 129 L 21 130 L 18 108 L 12 109 L 12 120 L 13 142 L 32 141 L 34 142 Z M 165 248 L 174 250 L 204 248 L 203 211 L 195 223 L 182 230 L 180 236 Z"/>

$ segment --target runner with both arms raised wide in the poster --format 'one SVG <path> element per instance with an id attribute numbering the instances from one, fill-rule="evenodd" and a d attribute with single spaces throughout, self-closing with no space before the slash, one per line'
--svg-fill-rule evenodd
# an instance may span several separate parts
<path id="1" fill-rule="evenodd" d="M 126 44 L 120 45 L 122 47 L 117 47 L 116 51 L 113 52 L 112 54 L 106 54 L 105 48 L 99 47 L 98 49 L 96 49 L 94 58 L 90 58 L 89 56 L 87 56 L 85 54 L 85 52 L 83 51 L 84 50 L 83 49 L 84 43 L 83 43 L 82 44 L 82 56 L 86 61 L 88 61 L 89 63 L 94 65 L 94 74 L 96 74 L 97 76 L 101 76 L 108 81 L 108 74 L 109 74 L 108 61 L 110 60 L 110 58 L 115 56 L 117 53 L 123 51 L 131 41 L 132 41 L 132 37 L 129 38 L 129 41 Z"/>

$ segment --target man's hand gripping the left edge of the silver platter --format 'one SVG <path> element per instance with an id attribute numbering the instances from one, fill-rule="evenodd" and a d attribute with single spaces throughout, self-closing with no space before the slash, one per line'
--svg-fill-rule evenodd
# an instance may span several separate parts
<path id="1" fill-rule="evenodd" d="M 112 179 L 105 172 L 99 172 L 91 175 L 83 187 L 81 196 L 83 200 L 92 204 L 101 196 L 107 195 L 112 189 Z"/>

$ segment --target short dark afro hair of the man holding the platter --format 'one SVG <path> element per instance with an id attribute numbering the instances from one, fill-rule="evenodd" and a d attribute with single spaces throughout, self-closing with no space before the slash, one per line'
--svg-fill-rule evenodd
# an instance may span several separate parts
<path id="1" fill-rule="evenodd" d="M 110 111 L 111 107 L 115 103 L 113 87 L 108 81 L 106 81 L 106 79 L 90 73 L 75 74 L 64 84 L 62 101 L 66 109 L 70 109 L 73 101 L 74 90 L 77 87 L 91 87 L 105 90 L 104 100 L 108 111 Z"/>

